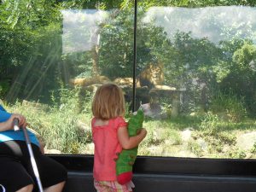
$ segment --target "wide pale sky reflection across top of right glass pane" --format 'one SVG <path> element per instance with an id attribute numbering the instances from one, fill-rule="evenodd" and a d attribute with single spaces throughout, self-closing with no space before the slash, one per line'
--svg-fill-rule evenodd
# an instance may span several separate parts
<path id="1" fill-rule="evenodd" d="M 255 43 L 256 10 L 252 7 L 220 6 L 206 8 L 153 7 L 142 21 L 160 26 L 172 40 L 177 32 L 191 33 L 191 38 L 207 38 L 214 44 L 232 38 L 251 39 Z"/>

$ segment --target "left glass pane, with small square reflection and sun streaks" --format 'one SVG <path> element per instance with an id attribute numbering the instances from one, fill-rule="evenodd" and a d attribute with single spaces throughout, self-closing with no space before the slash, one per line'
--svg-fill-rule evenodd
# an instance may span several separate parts
<path id="1" fill-rule="evenodd" d="M 45 153 L 93 154 L 94 91 L 109 81 L 132 83 L 125 78 L 132 76 L 133 5 L 120 5 L 0 3 L 1 104 L 26 116 Z"/>

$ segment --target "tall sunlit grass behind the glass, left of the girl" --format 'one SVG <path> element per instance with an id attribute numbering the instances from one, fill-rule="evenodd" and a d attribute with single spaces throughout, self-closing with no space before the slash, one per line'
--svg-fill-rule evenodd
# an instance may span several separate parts
<path id="1" fill-rule="evenodd" d="M 65 154 L 78 154 L 81 153 L 79 148 L 91 141 L 91 94 L 84 90 L 84 101 L 81 101 L 80 91 L 61 89 L 58 90 L 59 95 L 52 94 L 52 105 L 16 102 L 9 106 L 9 111 L 24 114 L 30 128 L 44 138 L 47 148 L 54 148 Z M 87 125 L 88 129 L 81 128 L 79 121 Z"/>

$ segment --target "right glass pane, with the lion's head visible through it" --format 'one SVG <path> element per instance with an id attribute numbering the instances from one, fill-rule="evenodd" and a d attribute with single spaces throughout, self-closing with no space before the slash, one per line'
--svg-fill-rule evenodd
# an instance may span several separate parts
<path id="1" fill-rule="evenodd" d="M 146 4 L 137 107 L 143 102 L 148 136 L 139 153 L 255 158 L 256 8 Z"/>

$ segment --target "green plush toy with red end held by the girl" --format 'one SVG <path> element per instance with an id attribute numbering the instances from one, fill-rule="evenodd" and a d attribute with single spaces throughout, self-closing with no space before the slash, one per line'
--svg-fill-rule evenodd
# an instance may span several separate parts
<path id="1" fill-rule="evenodd" d="M 137 131 L 143 127 L 144 113 L 139 109 L 136 114 L 131 116 L 128 121 L 128 133 L 130 137 L 136 136 Z M 119 184 L 125 184 L 131 181 L 132 166 L 137 158 L 137 147 L 123 149 L 116 160 L 116 175 Z"/>

